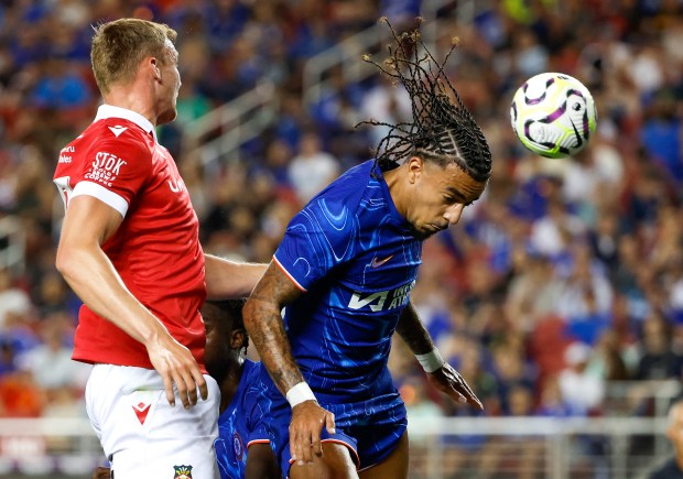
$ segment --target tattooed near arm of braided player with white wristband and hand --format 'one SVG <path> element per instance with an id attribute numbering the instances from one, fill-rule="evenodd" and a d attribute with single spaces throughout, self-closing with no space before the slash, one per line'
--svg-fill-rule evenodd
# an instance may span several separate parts
<path id="1" fill-rule="evenodd" d="M 263 274 L 243 308 L 245 327 L 261 362 L 292 405 L 290 449 L 300 465 L 322 454 L 321 431 L 334 434 L 334 415 L 318 406 L 294 360 L 281 311 L 300 297 L 301 290 L 274 262 Z"/>

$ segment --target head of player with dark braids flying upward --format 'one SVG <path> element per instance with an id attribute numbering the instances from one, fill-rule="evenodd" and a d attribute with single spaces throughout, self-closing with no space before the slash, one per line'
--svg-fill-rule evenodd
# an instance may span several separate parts
<path id="1" fill-rule="evenodd" d="M 444 72 L 456 42 L 440 64 L 419 30 L 401 35 L 391 32 L 395 46 L 389 47 L 384 65 L 368 56 L 364 59 L 405 87 L 413 119 L 398 124 L 367 123 L 389 127 L 378 145 L 377 163 L 382 171 L 400 166 L 405 171 L 410 186 L 401 189 L 405 196 L 401 213 L 418 236 L 426 238 L 456 224 L 463 208 L 481 195 L 491 174 L 491 153 Z"/>

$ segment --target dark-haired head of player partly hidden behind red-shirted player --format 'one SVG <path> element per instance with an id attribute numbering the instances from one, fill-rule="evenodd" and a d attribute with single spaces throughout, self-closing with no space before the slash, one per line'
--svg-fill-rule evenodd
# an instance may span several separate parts
<path id="1" fill-rule="evenodd" d="M 208 373 L 223 380 L 231 368 L 239 367 L 240 351 L 249 346 L 242 320 L 246 300 L 207 301 L 202 307 L 206 327 L 204 361 Z"/>

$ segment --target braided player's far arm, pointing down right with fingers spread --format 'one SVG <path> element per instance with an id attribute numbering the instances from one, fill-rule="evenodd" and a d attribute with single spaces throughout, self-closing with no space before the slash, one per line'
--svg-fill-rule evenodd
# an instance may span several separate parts
<path id="1" fill-rule="evenodd" d="M 412 302 L 403 308 L 397 333 L 413 351 L 418 361 L 427 372 L 427 380 L 440 391 L 456 401 L 468 402 L 475 407 L 484 409 L 467 382 L 451 364 L 445 362 L 434 346 L 430 333 L 426 330 Z"/>

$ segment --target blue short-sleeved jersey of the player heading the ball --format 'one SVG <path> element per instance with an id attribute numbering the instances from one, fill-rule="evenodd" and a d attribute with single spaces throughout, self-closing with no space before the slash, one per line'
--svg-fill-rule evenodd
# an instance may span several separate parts
<path id="1" fill-rule="evenodd" d="M 422 241 L 369 161 L 290 222 L 274 261 L 305 291 L 285 311 L 292 352 L 321 403 L 394 392 L 391 336 L 421 264 Z"/>

